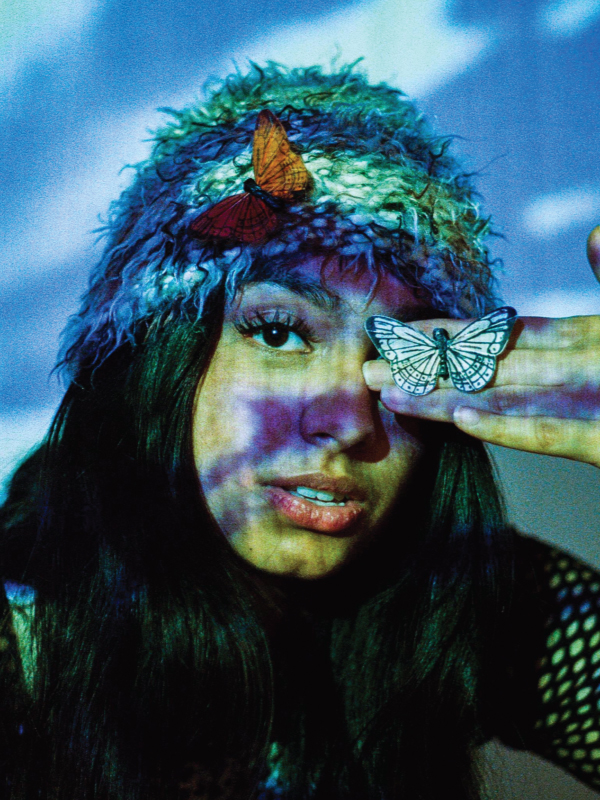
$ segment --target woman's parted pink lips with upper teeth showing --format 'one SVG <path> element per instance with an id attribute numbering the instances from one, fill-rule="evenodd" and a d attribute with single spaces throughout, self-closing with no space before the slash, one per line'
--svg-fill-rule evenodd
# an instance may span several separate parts
<path id="1" fill-rule="evenodd" d="M 265 493 L 270 505 L 291 522 L 319 533 L 340 533 L 363 513 L 364 493 L 348 478 L 294 475 L 270 481 Z"/>

